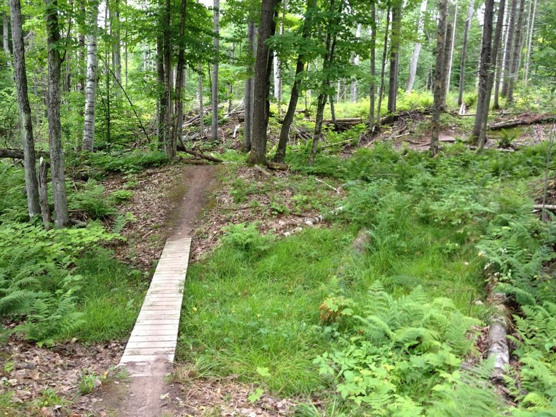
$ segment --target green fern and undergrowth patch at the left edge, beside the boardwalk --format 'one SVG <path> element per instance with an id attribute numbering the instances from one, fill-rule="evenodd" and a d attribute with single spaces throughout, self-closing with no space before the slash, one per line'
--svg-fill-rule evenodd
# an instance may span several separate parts
<path id="1" fill-rule="evenodd" d="M 51 343 L 81 324 L 75 292 L 81 276 L 72 265 L 83 251 L 113 240 L 99 224 L 86 229 L 44 230 L 32 224 L 0 226 L 0 314 L 23 320 L 16 331 Z"/>

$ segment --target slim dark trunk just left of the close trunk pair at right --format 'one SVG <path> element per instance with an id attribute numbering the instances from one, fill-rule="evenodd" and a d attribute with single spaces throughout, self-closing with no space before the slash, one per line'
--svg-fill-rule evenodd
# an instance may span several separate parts
<path id="1" fill-rule="evenodd" d="M 487 0 L 489 1 L 489 0 Z M 448 0 L 439 0 L 439 26 L 436 31 L 436 66 L 434 68 L 434 104 L 432 106 L 430 152 L 439 152 L 440 114 L 442 113 L 442 78 L 446 42 Z"/>

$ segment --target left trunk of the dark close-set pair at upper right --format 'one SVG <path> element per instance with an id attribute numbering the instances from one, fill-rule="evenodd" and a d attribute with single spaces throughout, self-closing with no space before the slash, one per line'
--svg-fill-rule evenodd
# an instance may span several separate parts
<path id="1" fill-rule="evenodd" d="M 489 114 L 489 107 L 486 97 L 489 95 L 489 75 L 491 73 L 492 57 L 492 25 L 494 15 L 494 0 L 486 0 L 484 3 L 484 24 L 482 28 L 481 41 L 481 63 L 479 67 L 479 92 L 477 97 L 477 112 L 475 115 L 475 126 L 473 127 L 473 137 L 475 140 L 480 138 L 483 117 Z M 496 62 L 496 61 L 495 61 Z"/>

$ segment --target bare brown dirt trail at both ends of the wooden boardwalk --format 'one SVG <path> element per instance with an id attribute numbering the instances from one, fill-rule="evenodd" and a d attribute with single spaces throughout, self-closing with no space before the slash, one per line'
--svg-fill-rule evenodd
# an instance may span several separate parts
<path id="1" fill-rule="evenodd" d="M 168 230 L 166 247 L 190 238 L 195 227 L 195 219 L 206 204 L 206 190 L 215 181 L 217 169 L 214 165 L 193 165 L 184 170 L 183 183 L 177 186 L 174 193 L 174 199 L 177 200 L 176 207 L 165 222 Z M 163 258 L 165 258 L 164 252 L 161 259 Z M 172 262 L 172 258 L 170 258 L 170 262 Z M 148 293 L 147 297 L 149 297 Z M 165 311 L 165 313 L 174 313 L 174 316 L 179 318 L 181 302 L 167 308 L 169 310 L 177 309 L 177 311 Z M 139 321 L 140 319 L 138 319 Z M 167 361 L 167 357 L 167 355 L 165 357 L 161 355 L 160 358 L 151 362 L 126 363 L 125 366 L 130 375 L 129 380 L 108 389 L 107 395 L 102 401 L 102 411 L 106 413 L 105 415 L 121 417 L 174 416 L 176 413 L 172 409 L 170 398 L 179 396 L 179 393 L 172 392 L 176 389 L 167 383 L 167 375 L 172 371 L 172 363 Z M 173 359 L 173 354 L 171 357 Z"/>

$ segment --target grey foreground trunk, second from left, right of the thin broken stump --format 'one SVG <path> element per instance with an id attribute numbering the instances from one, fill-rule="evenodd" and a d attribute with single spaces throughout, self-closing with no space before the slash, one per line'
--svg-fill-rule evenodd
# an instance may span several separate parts
<path id="1" fill-rule="evenodd" d="M 48 47 L 48 93 L 47 117 L 52 174 L 52 195 L 56 212 L 56 227 L 65 227 L 67 197 L 65 193 L 64 155 L 62 150 L 62 125 L 60 123 L 60 27 L 58 24 L 58 0 L 45 0 L 47 15 Z"/>

